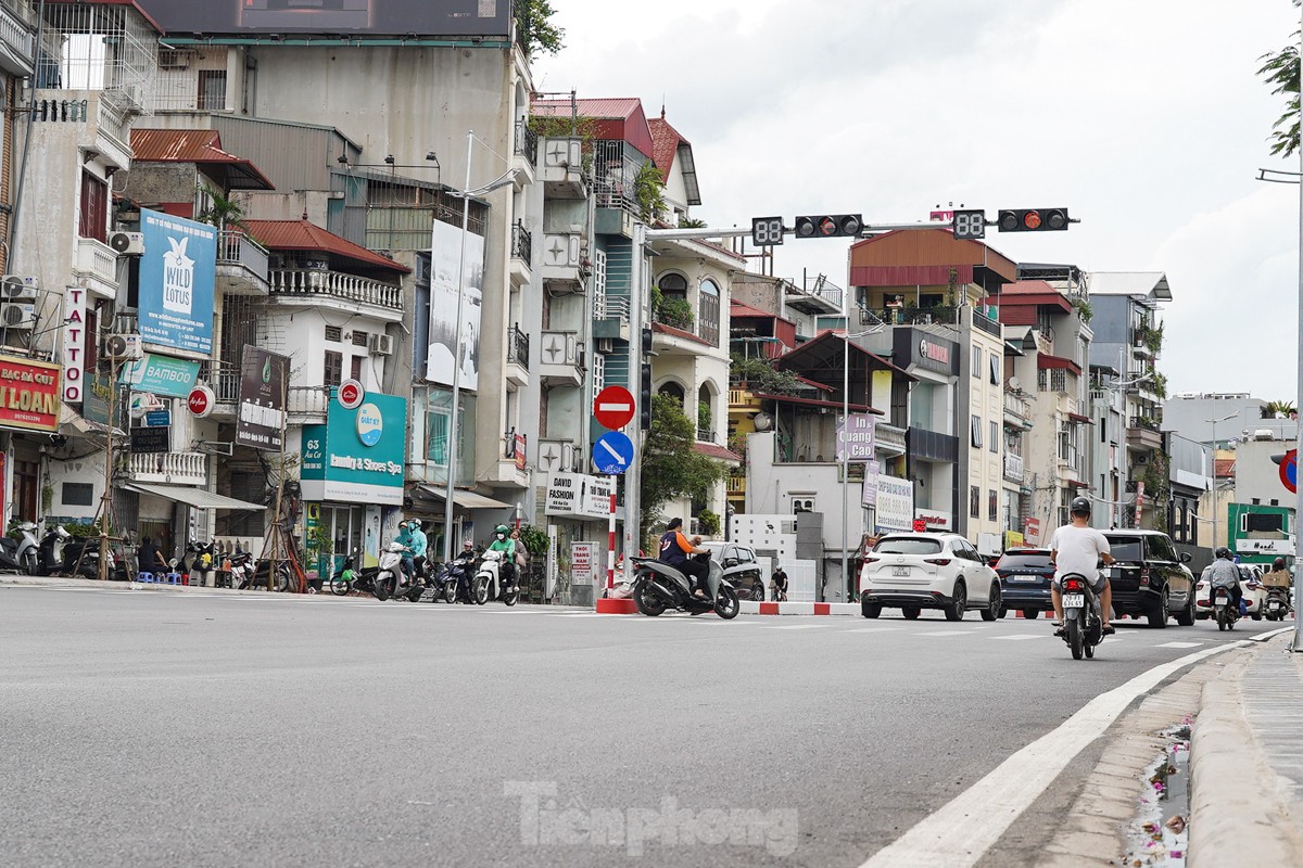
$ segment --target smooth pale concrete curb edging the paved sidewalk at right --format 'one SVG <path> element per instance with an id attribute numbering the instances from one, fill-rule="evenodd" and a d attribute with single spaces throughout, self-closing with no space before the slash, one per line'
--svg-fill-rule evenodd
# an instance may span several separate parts
<path id="1" fill-rule="evenodd" d="M 1303 835 L 1282 781 L 1244 717 L 1240 682 L 1257 655 L 1281 653 L 1278 638 L 1240 655 L 1204 685 L 1190 748 L 1190 868 L 1299 865 Z"/>

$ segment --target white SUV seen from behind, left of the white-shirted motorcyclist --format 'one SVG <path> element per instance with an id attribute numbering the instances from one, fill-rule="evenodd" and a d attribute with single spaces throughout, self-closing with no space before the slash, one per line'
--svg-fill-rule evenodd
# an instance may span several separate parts
<path id="1" fill-rule="evenodd" d="M 960 621 L 968 609 L 982 621 L 999 617 L 999 576 L 972 543 L 958 534 L 890 534 L 864 556 L 860 609 L 877 618 L 882 606 L 900 606 L 906 618 L 941 609 Z"/>

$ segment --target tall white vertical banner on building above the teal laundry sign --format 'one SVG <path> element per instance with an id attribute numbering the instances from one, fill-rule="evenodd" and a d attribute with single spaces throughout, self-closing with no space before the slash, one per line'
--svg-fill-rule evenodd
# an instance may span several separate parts
<path id="1" fill-rule="evenodd" d="M 461 280 L 461 321 L 457 321 L 457 276 L 461 243 L 466 245 L 466 268 Z M 453 359 L 461 364 L 460 388 L 480 388 L 480 301 L 483 297 L 485 239 L 463 233 L 442 220 L 434 221 L 430 241 L 430 346 L 425 379 L 452 385 Z"/>

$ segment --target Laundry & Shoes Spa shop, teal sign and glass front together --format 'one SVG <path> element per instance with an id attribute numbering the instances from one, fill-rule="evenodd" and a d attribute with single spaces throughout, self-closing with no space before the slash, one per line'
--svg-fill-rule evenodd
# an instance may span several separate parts
<path id="1" fill-rule="evenodd" d="M 326 569 L 349 552 L 361 566 L 375 565 L 403 515 L 407 400 L 369 392 L 351 403 L 332 390 L 326 424 L 301 431 L 302 497 Z"/>

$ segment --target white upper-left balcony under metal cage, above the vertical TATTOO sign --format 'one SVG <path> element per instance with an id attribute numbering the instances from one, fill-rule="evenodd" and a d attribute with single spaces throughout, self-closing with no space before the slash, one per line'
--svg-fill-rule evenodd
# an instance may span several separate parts
<path id="1" fill-rule="evenodd" d="M 30 118 L 36 147 L 63 151 L 74 146 L 119 169 L 130 165 L 126 117 L 104 91 L 38 90 Z"/>

